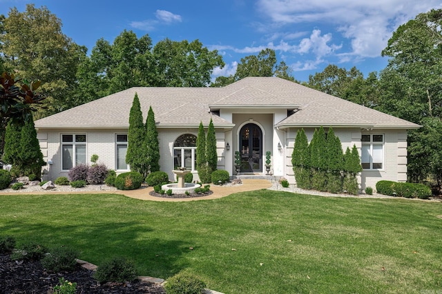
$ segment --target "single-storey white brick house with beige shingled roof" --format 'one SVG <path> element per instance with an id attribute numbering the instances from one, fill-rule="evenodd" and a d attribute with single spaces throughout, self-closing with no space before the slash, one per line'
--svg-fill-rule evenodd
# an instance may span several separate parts
<path id="1" fill-rule="evenodd" d="M 281 78 L 249 77 L 227 87 L 133 87 L 35 121 L 45 160 L 44 176 L 66 176 L 79 162 L 99 162 L 117 173 L 128 171 L 128 116 L 135 93 L 144 121 L 152 106 L 160 140 L 160 166 L 173 179 L 173 169 L 191 169 L 200 121 L 212 118 L 218 147 L 218 169 L 234 175 L 235 151 L 244 166 L 241 174 L 263 175 L 265 153 L 271 152 L 271 173 L 295 183 L 291 153 L 298 129 L 311 140 L 314 129 L 333 127 L 343 149 L 356 145 L 363 171 L 361 188 L 378 180 L 407 179 L 407 129 L 419 125 L 374 109 L 312 90 Z M 189 143 L 190 142 L 190 143 Z"/>

